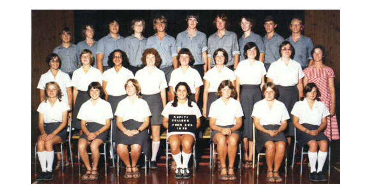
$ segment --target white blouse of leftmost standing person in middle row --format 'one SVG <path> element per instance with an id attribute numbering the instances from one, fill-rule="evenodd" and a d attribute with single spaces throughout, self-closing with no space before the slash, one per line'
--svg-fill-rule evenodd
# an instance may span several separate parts
<path id="1" fill-rule="evenodd" d="M 45 85 L 48 82 L 57 82 L 62 91 L 62 101 L 68 103 L 67 88 L 72 87 L 69 75 L 62 70 L 58 70 L 57 75 L 54 77 L 52 71 L 49 69 L 45 74 L 41 75 L 37 89 L 45 90 Z"/>

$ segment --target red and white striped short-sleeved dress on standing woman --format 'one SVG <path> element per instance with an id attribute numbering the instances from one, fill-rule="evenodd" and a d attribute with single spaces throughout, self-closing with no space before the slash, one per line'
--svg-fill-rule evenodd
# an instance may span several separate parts
<path id="1" fill-rule="evenodd" d="M 334 71 L 331 69 L 331 67 L 327 67 L 327 66 L 321 67 L 321 68 L 315 68 L 314 66 L 311 66 L 311 67 L 304 69 L 303 72 L 304 72 L 305 77 L 308 80 L 307 83 L 314 82 L 317 85 L 319 92 L 321 92 L 321 96 L 319 97 L 319 99 L 325 103 L 328 111 L 330 111 L 331 92 L 330 92 L 328 78 L 335 77 Z M 327 117 L 327 127 L 324 133 L 330 141 L 340 139 L 338 121 L 336 120 L 336 114 L 334 116 Z"/>

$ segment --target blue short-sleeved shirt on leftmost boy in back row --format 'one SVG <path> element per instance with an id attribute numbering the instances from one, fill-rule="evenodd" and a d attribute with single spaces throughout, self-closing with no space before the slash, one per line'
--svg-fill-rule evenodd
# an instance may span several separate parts
<path id="1" fill-rule="evenodd" d="M 77 46 L 76 44 L 71 44 L 68 48 L 59 45 L 53 52 L 57 54 L 62 61 L 60 70 L 66 72 L 67 74 L 72 74 L 78 68 L 78 58 L 77 58 Z"/>

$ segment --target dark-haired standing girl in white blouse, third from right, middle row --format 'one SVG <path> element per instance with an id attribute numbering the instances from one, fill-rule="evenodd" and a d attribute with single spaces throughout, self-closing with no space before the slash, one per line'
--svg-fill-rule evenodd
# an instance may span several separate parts
<path id="1" fill-rule="evenodd" d="M 242 142 L 244 167 L 253 168 L 253 118 L 250 116 L 253 106 L 262 99 L 261 89 L 264 75 L 267 74 L 264 64 L 259 59 L 259 48 L 254 42 L 247 42 L 243 48 L 246 60 L 239 62 L 236 74 L 237 100 L 241 102 L 243 114 Z M 247 153 L 249 150 L 249 153 Z"/>

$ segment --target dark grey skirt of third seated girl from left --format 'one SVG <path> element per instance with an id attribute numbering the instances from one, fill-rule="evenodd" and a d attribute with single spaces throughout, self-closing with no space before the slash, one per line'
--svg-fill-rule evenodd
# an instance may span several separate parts
<path id="1" fill-rule="evenodd" d="M 138 129 L 143 124 L 143 122 L 138 122 L 136 120 L 130 119 L 125 122 L 122 122 L 122 125 L 128 130 Z M 148 132 L 146 130 L 142 130 L 137 135 L 129 137 L 125 135 L 121 130 L 118 129 L 117 135 L 115 137 L 116 144 L 124 144 L 124 145 L 133 145 L 139 144 L 142 147 L 142 152 L 148 153 Z"/>

